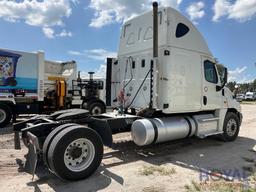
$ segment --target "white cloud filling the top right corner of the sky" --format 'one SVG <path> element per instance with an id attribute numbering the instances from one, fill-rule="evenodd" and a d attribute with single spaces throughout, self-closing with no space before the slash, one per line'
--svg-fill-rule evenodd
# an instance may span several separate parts
<path id="1" fill-rule="evenodd" d="M 256 0 L 215 0 L 213 6 L 213 21 L 217 22 L 221 17 L 245 22 L 256 16 Z"/>

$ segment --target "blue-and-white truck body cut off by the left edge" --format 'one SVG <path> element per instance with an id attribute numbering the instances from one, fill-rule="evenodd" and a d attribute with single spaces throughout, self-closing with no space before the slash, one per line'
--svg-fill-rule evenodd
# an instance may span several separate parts
<path id="1" fill-rule="evenodd" d="M 0 127 L 4 127 L 15 114 L 38 111 L 44 100 L 44 53 L 1 49 L 0 60 Z"/>

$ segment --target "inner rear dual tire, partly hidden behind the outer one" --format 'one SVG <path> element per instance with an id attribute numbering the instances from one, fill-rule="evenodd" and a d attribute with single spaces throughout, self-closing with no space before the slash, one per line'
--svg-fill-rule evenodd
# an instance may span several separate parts
<path id="1" fill-rule="evenodd" d="M 68 123 L 68 124 L 64 124 L 64 125 L 60 125 L 58 127 L 56 127 L 52 132 L 50 132 L 50 134 L 46 137 L 44 144 L 43 144 L 43 160 L 44 163 L 46 164 L 46 166 L 50 168 L 49 166 L 49 162 L 48 162 L 48 158 L 47 158 L 47 154 L 48 154 L 48 150 L 50 147 L 50 144 L 52 142 L 52 140 L 54 139 L 54 137 L 61 132 L 63 129 L 67 128 L 67 127 L 71 127 L 73 125 L 76 125 L 74 123 Z"/>

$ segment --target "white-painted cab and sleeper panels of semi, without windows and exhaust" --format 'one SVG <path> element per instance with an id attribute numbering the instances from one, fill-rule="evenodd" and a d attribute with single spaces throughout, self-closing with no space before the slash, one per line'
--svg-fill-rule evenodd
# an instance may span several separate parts
<path id="1" fill-rule="evenodd" d="M 153 60 L 152 20 L 152 12 L 148 12 L 127 21 L 121 30 L 118 64 L 112 65 L 111 100 L 119 98 L 124 90 L 126 107 L 142 109 L 150 103 L 150 76 L 135 95 Z M 216 91 L 216 86 L 221 86 L 219 77 L 216 84 L 206 81 L 204 62 L 209 60 L 215 63 L 215 59 L 193 23 L 172 8 L 160 8 L 158 20 L 159 72 L 156 73 L 154 68 L 154 82 L 157 78 L 159 83 L 153 86 L 154 108 L 168 114 L 225 109 L 216 113 L 224 115 L 228 107 L 240 111 L 230 91 L 225 91 L 225 96 L 222 91 Z M 190 30 L 185 36 L 176 38 L 179 23 Z M 164 55 L 165 50 L 170 55 Z M 145 60 L 145 67 L 142 67 L 142 60 Z M 206 105 L 203 96 L 207 97 Z M 164 104 L 169 107 L 164 108 Z M 112 105 L 118 106 L 120 102 L 112 102 Z"/>

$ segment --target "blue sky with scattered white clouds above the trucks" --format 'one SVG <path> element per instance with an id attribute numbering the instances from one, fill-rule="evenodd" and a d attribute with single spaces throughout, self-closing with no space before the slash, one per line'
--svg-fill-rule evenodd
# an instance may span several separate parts
<path id="1" fill-rule="evenodd" d="M 124 21 L 151 10 L 152 0 L 0 0 L 0 47 L 47 60 L 75 60 L 86 74 L 105 73 L 118 52 Z M 229 80 L 256 79 L 256 0 L 158 0 L 188 17 Z"/>

